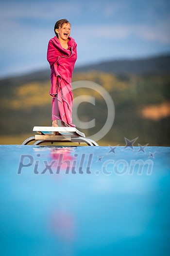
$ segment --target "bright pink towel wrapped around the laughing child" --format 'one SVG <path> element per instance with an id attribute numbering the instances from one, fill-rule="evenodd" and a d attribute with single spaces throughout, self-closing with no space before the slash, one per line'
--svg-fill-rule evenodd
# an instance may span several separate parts
<path id="1" fill-rule="evenodd" d="M 50 39 L 47 51 L 47 60 L 51 67 L 51 97 L 58 99 L 61 120 L 69 126 L 72 123 L 73 94 L 71 87 L 72 72 L 77 59 L 77 44 L 71 37 L 68 38 L 68 49 L 64 49 L 58 38 Z"/>

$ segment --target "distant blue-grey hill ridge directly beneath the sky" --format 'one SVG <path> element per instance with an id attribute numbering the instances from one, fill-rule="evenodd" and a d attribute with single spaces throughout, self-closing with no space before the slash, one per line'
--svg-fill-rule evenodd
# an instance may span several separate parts
<path id="1" fill-rule="evenodd" d="M 170 74 L 170 54 L 144 59 L 121 59 L 102 61 L 99 63 L 75 67 L 74 74 L 89 71 L 102 71 L 107 73 L 109 72 L 115 75 L 168 75 Z M 49 78 L 50 67 L 49 69 L 27 73 L 23 76 L 0 79 L 0 85 L 4 82 L 7 82 L 9 84 L 15 84 L 17 82 L 21 84 L 23 82 L 44 81 L 48 80 Z"/>

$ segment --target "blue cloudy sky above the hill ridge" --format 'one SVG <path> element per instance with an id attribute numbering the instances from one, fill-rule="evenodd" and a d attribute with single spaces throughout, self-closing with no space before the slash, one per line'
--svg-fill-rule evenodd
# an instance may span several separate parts
<path id="1" fill-rule="evenodd" d="M 50 68 L 48 42 L 64 18 L 76 66 L 170 53 L 169 0 L 1 0 L 0 78 Z"/>

